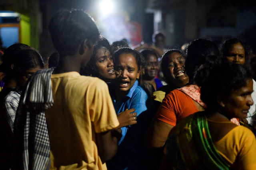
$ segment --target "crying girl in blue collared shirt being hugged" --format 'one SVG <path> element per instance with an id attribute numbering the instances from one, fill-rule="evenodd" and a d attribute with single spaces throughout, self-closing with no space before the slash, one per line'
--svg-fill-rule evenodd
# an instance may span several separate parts
<path id="1" fill-rule="evenodd" d="M 142 56 L 138 51 L 123 47 L 114 53 L 115 70 L 114 90 L 111 93 L 116 113 L 135 108 L 137 124 L 122 127 L 122 138 L 118 151 L 107 162 L 108 169 L 148 169 L 150 154 L 142 145 L 144 134 L 154 116 L 152 100 L 139 85 Z"/>

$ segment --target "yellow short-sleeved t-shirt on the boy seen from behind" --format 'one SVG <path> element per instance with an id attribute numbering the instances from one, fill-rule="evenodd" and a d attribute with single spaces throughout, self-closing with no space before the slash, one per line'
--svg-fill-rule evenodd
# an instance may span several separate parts
<path id="1" fill-rule="evenodd" d="M 54 106 L 45 111 L 51 169 L 104 170 L 95 133 L 119 125 L 107 84 L 78 72 L 52 74 Z"/>

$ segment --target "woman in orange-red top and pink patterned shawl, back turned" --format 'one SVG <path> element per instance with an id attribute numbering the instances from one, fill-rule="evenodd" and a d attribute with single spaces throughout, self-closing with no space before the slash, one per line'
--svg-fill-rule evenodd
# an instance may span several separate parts
<path id="1" fill-rule="evenodd" d="M 185 72 L 189 77 L 189 85 L 171 91 L 163 99 L 146 136 L 150 149 L 162 148 L 176 123 L 188 115 L 204 110 L 205 105 L 200 100 L 200 88 L 194 82 L 194 76 L 202 64 L 214 63 L 218 57 L 218 46 L 213 41 L 196 39 L 188 44 Z"/>

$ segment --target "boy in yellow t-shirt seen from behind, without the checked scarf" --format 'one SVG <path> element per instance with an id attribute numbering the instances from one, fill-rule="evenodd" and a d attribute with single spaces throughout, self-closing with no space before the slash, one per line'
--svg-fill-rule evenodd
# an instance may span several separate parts
<path id="1" fill-rule="evenodd" d="M 94 21 L 79 10 L 57 12 L 49 23 L 60 61 L 52 73 L 54 106 L 46 111 L 51 168 L 106 169 L 117 150 L 111 130 L 119 125 L 105 82 L 80 76 L 99 37 Z"/>

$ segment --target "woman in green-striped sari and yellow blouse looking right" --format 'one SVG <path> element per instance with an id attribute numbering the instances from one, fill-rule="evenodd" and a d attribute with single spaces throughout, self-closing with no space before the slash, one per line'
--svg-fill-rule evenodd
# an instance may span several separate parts
<path id="1" fill-rule="evenodd" d="M 204 111 L 194 113 L 173 128 L 166 141 L 166 169 L 256 169 L 256 139 L 252 131 L 230 121 L 246 118 L 253 104 L 250 71 L 233 63 L 196 74 Z M 161 166 L 163 167 L 163 166 Z"/>

